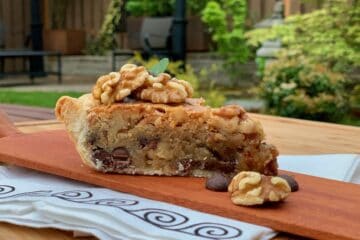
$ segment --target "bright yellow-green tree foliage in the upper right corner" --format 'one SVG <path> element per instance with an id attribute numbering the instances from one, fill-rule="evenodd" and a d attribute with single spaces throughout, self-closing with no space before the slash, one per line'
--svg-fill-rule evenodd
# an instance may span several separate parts
<path id="1" fill-rule="evenodd" d="M 360 66 L 359 1 L 331 0 L 311 13 L 286 18 L 284 25 L 246 33 L 251 46 L 280 39 L 288 55 L 304 55 L 334 71 Z"/>

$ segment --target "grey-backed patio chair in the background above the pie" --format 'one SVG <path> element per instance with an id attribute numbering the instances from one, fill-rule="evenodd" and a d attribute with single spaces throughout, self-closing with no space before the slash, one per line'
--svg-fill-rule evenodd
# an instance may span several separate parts
<path id="1" fill-rule="evenodd" d="M 140 30 L 141 55 L 172 58 L 172 17 L 149 17 L 143 20 Z M 117 49 L 112 52 L 112 70 L 116 71 L 117 56 L 133 56 L 134 51 Z"/>

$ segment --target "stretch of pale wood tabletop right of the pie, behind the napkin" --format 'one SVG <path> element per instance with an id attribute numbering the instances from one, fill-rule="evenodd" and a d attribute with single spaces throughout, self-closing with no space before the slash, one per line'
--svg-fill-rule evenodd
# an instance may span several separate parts
<path id="1" fill-rule="evenodd" d="M 360 127 L 262 114 L 258 119 L 280 154 L 360 153 Z"/>

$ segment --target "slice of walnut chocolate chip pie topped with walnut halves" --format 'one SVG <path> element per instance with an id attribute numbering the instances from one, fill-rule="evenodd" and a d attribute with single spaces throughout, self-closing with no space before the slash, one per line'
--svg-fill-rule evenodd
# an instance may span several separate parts
<path id="1" fill-rule="evenodd" d="M 127 64 L 98 79 L 92 94 L 61 97 L 63 121 L 84 163 L 123 174 L 277 174 L 278 151 L 239 106 L 210 108 L 191 86 Z"/>

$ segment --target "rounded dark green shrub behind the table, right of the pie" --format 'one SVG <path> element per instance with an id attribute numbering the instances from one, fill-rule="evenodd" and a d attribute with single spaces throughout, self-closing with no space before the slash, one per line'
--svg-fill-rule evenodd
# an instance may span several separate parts
<path id="1" fill-rule="evenodd" d="M 348 111 L 345 79 L 304 57 L 282 56 L 264 72 L 258 94 L 276 115 L 339 121 Z"/>

